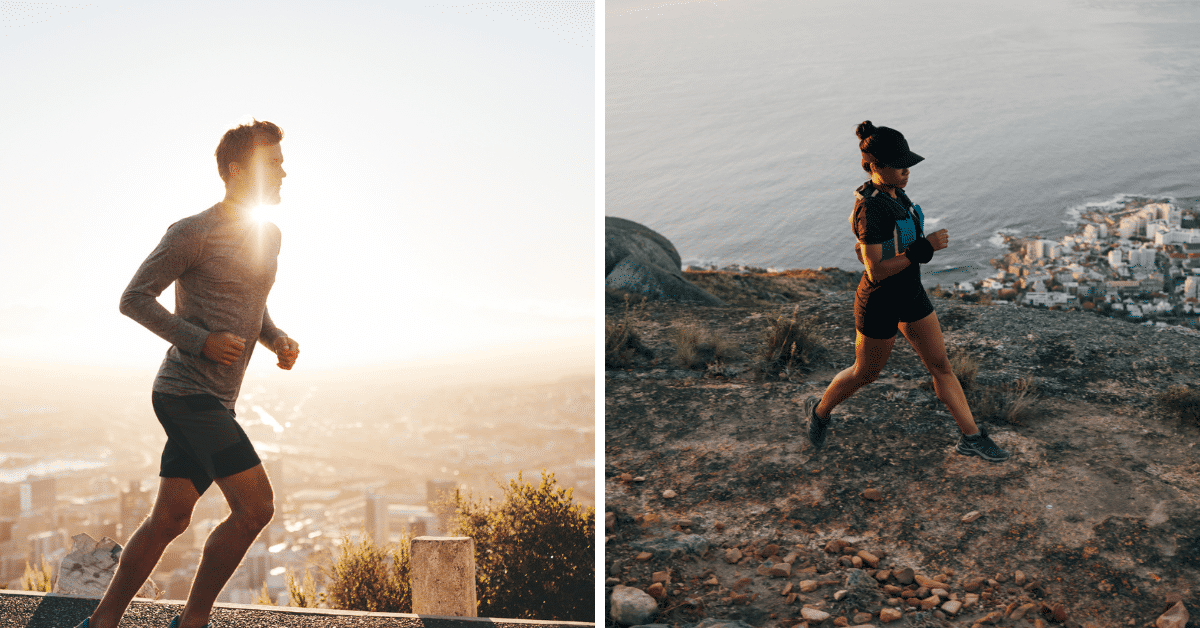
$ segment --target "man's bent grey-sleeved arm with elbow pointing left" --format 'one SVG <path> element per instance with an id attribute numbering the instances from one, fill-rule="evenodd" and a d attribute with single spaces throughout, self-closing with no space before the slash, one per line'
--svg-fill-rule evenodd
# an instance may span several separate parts
<path id="1" fill-rule="evenodd" d="M 158 295 L 186 271 L 199 255 L 186 227 L 172 225 L 158 246 L 138 267 L 121 294 L 120 311 L 156 335 L 191 354 L 204 352 L 209 331 L 168 312 Z"/>

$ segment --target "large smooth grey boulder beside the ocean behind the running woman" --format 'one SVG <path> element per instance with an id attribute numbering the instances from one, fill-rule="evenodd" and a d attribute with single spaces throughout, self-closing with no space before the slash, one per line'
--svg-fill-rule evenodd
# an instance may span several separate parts
<path id="1" fill-rule="evenodd" d="M 646 226 L 625 219 L 604 219 L 605 288 L 652 300 L 722 305 L 703 288 L 683 279 L 679 251 Z"/>

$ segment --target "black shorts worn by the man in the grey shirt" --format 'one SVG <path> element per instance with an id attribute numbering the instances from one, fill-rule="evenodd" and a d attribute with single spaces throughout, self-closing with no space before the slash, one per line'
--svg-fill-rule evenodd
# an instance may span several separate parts
<path id="1" fill-rule="evenodd" d="M 167 430 L 158 476 L 188 478 L 196 492 L 216 478 L 241 473 L 258 466 L 254 451 L 234 412 L 212 395 L 151 395 L 154 413 Z"/>

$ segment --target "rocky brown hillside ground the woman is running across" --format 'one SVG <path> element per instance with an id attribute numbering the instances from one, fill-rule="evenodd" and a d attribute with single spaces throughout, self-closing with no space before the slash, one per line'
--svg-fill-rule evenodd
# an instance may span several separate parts
<path id="1" fill-rule="evenodd" d="M 1183 627 L 1200 608 L 1200 427 L 1160 401 L 1193 385 L 1195 335 L 934 299 L 1013 457 L 954 453 L 902 337 L 815 453 L 800 407 L 853 363 L 857 275 L 685 276 L 727 305 L 606 306 L 632 336 L 605 373 L 610 626 Z M 820 342 L 768 365 L 793 317 Z"/>

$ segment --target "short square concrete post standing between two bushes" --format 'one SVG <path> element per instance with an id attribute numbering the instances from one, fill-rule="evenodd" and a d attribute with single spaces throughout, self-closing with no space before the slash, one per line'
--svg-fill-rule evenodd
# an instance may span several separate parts
<path id="1" fill-rule="evenodd" d="M 478 617 L 475 540 L 469 537 L 416 537 L 409 546 L 413 612 Z"/>

